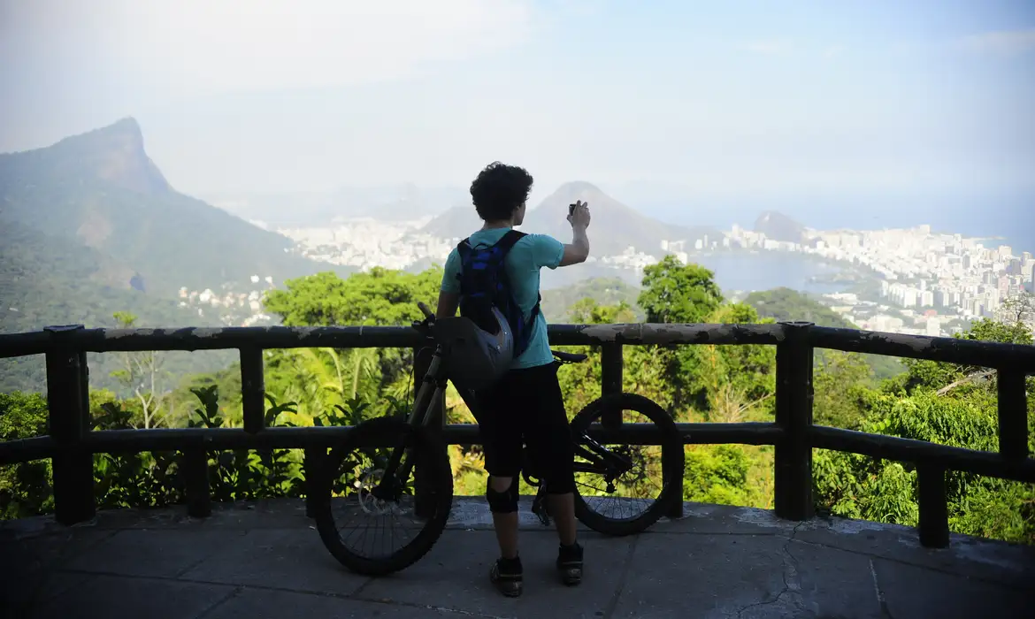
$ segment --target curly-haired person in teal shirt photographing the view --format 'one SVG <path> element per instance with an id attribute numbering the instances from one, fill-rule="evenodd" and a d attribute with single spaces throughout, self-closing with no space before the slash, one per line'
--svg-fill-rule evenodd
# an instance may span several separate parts
<path id="1" fill-rule="evenodd" d="M 471 183 L 471 198 L 484 223 L 465 242 L 493 246 L 525 220 L 532 176 L 524 169 L 499 161 L 487 166 Z M 500 557 L 490 579 L 501 593 L 515 597 L 523 590 L 518 552 L 518 483 L 523 442 L 546 490 L 546 506 L 557 528 L 560 548 L 556 561 L 566 585 L 582 582 L 583 548 L 575 539 L 573 448 L 567 413 L 557 379 L 557 364 L 546 337 L 546 321 L 538 312 L 539 269 L 579 264 L 589 256 L 589 206 L 569 207 L 571 242 L 543 234 L 521 236 L 504 258 L 509 293 L 531 321 L 528 346 L 510 369 L 491 387 L 476 393 L 476 417 L 481 434 L 489 479 L 485 498 Z M 463 243 L 462 243 L 463 245 Z M 445 263 L 437 318 L 451 318 L 461 303 L 462 259 L 457 248 Z"/>

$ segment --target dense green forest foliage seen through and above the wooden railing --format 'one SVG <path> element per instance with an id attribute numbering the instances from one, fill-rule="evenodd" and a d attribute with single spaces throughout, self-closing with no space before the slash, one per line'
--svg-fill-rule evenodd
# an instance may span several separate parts
<path id="1" fill-rule="evenodd" d="M 326 272 L 289 281 L 267 294 L 265 304 L 286 325 L 407 325 L 420 318 L 416 302 L 434 303 L 441 270 L 407 273 L 382 268 L 348 278 Z M 824 317 L 806 297 L 776 291 L 746 302 L 726 299 L 711 271 L 674 257 L 645 269 L 635 299 L 619 287 L 553 300 L 551 318 L 580 323 L 648 322 L 761 323 L 775 318 Z M 576 295 L 578 296 L 578 295 Z M 563 307 L 567 316 L 555 316 Z M 829 318 L 829 317 L 825 317 Z M 129 322 L 131 316 L 117 320 Z M 842 326 L 842 325 L 837 325 Z M 958 335 L 997 342 L 1032 343 L 1023 325 L 976 322 Z M 600 394 L 600 364 L 594 347 L 568 347 L 591 361 L 561 370 L 569 414 Z M 658 402 L 678 421 L 772 420 L 775 350 L 766 346 L 625 347 L 624 388 Z M 150 391 L 147 377 L 164 353 L 123 354 L 114 379 L 132 391 L 90 394 L 96 429 L 144 426 L 240 426 L 240 375 L 234 365 L 184 379 L 175 388 Z M 904 361 L 882 378 L 861 355 L 817 353 L 817 423 L 947 445 L 996 450 L 996 379 L 980 369 Z M 412 391 L 408 350 L 299 349 L 265 352 L 269 424 L 354 423 L 405 409 Z M 1035 380 L 1028 381 L 1029 425 L 1035 425 Z M 448 420 L 473 422 L 459 395 L 447 393 Z M 38 393 L 0 394 L 0 439 L 46 434 L 47 403 Z M 1029 432 L 1035 450 L 1035 428 Z M 687 445 L 684 498 L 692 501 L 771 508 L 773 449 L 767 446 Z M 174 453 L 95 456 L 98 504 L 158 506 L 183 497 Z M 480 495 L 484 472 L 477 446 L 452 446 L 455 492 Z M 216 500 L 298 496 L 304 471 L 300 450 L 233 451 L 210 454 Z M 816 450 L 815 500 L 822 514 L 915 525 L 917 479 L 907 463 L 876 461 Z M 528 489 L 525 489 L 526 491 Z M 949 477 L 952 531 L 1035 543 L 1035 488 L 969 474 Z M 49 462 L 0 469 L 0 512 L 19 518 L 53 508 Z"/>

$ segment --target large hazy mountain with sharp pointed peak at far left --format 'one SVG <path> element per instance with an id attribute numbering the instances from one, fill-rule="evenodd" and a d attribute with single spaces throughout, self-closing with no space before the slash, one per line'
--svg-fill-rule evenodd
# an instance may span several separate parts
<path id="1" fill-rule="evenodd" d="M 0 227 L 16 224 L 90 247 L 110 262 L 107 273 L 136 274 L 137 288 L 162 295 L 253 274 L 279 283 L 341 270 L 288 255 L 287 237 L 177 193 L 147 156 L 131 118 L 0 154 Z M 130 287 L 128 277 L 121 287 Z"/>

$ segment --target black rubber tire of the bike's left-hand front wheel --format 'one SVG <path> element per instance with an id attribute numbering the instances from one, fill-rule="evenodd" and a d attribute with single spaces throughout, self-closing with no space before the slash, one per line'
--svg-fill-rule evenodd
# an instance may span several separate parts
<path id="1" fill-rule="evenodd" d="M 417 466 L 423 468 L 422 474 L 426 474 L 431 482 L 433 513 L 413 540 L 391 555 L 379 558 L 359 556 L 342 543 L 331 512 L 335 474 L 343 460 L 354 449 L 397 441 L 400 437 L 407 435 L 413 439 L 415 451 L 421 453 Z M 398 417 L 378 417 L 356 425 L 341 444 L 331 449 L 327 458 L 317 481 L 316 493 L 320 500 L 315 520 L 320 539 L 339 563 L 357 573 L 385 576 L 409 567 L 432 550 L 449 521 L 453 498 L 452 469 L 449 467 L 445 444 L 441 440 L 435 438 L 427 429 L 414 428 Z"/>

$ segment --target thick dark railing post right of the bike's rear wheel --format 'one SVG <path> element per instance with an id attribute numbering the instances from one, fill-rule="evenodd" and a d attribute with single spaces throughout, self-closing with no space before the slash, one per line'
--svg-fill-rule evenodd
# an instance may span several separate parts
<path id="1" fill-rule="evenodd" d="M 785 322 L 785 338 L 776 345 L 776 423 L 783 439 L 775 448 L 775 511 L 787 520 L 812 515 L 812 323 Z"/>

